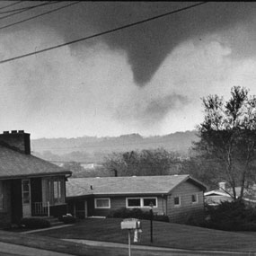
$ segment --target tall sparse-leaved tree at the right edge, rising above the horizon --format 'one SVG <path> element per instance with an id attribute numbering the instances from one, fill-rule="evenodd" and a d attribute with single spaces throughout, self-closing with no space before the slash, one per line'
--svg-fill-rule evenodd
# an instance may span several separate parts
<path id="1" fill-rule="evenodd" d="M 229 101 L 209 95 L 203 98 L 203 105 L 205 119 L 199 125 L 200 140 L 195 149 L 223 166 L 218 175 L 232 188 L 234 199 L 242 198 L 244 187 L 254 179 L 256 97 L 249 96 L 247 89 L 234 86 Z M 236 195 L 237 186 L 241 187 L 240 195 Z"/>

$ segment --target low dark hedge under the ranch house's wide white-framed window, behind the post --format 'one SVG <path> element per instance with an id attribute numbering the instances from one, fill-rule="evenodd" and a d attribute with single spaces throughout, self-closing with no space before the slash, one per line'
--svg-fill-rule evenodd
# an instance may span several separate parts
<path id="1" fill-rule="evenodd" d="M 121 207 L 116 210 L 110 211 L 110 214 L 107 217 L 116 217 L 116 218 L 138 218 L 138 219 L 150 219 L 150 213 L 147 210 L 142 210 L 140 208 L 128 209 L 126 207 Z M 165 221 L 169 222 L 168 216 L 157 216 L 154 215 L 153 219 L 155 221 Z"/>

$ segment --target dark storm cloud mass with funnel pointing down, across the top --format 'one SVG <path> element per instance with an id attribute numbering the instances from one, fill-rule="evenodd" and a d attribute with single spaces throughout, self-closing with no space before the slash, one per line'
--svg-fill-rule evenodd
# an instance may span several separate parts
<path id="1" fill-rule="evenodd" d="M 191 4 L 194 3 L 81 2 L 36 22 L 54 27 L 66 41 L 70 41 Z M 207 3 L 153 22 L 116 31 L 98 39 L 71 45 L 71 49 L 79 52 L 86 44 L 104 40 L 110 49 L 125 50 L 134 80 L 143 86 L 150 81 L 164 58 L 179 43 L 188 39 L 200 40 L 200 37 L 207 33 L 228 30 L 240 22 L 250 24 L 251 18 L 256 13 L 255 10 L 255 3 Z M 255 24 L 252 24 L 251 28 L 252 34 L 255 34 Z M 246 42 L 240 43 L 246 44 Z"/>

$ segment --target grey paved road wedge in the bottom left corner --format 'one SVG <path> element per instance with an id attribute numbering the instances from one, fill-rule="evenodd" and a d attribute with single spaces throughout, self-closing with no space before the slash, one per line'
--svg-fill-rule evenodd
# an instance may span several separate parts
<path id="1" fill-rule="evenodd" d="M 1 256 L 70 256 L 71 254 L 49 252 L 47 250 L 41 250 L 31 248 L 22 245 L 16 245 L 13 243 L 0 242 L 0 255 Z"/>

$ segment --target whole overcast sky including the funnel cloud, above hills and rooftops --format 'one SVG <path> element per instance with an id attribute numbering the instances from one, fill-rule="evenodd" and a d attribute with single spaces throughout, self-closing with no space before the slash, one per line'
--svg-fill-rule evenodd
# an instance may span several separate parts
<path id="1" fill-rule="evenodd" d="M 0 8 L 14 2 L 1 2 Z M 0 13 L 43 2 L 24 1 Z M 71 2 L 1 19 L 0 60 L 199 2 Z M 93 40 L 0 64 L 0 131 L 32 138 L 165 135 L 194 129 L 201 98 L 256 94 L 256 3 L 207 3 Z"/>

